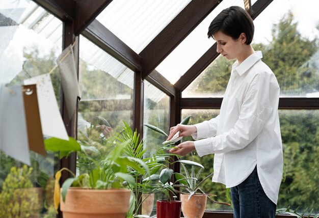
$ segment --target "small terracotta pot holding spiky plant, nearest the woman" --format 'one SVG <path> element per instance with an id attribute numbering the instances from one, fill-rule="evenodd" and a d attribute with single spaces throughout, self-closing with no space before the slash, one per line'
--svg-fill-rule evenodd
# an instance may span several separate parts
<path id="1" fill-rule="evenodd" d="M 189 200 L 189 195 L 180 195 L 181 210 L 185 218 L 201 218 L 204 215 L 207 196 L 193 195 Z"/>

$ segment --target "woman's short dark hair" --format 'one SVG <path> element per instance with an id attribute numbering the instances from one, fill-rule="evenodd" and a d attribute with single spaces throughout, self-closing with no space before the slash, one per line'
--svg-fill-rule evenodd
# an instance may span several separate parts
<path id="1" fill-rule="evenodd" d="M 221 31 L 233 39 L 238 39 L 241 33 L 246 34 L 246 44 L 249 45 L 254 37 L 254 23 L 248 12 L 239 7 L 231 6 L 219 13 L 214 20 L 211 21 L 208 28 L 208 38 Z"/>

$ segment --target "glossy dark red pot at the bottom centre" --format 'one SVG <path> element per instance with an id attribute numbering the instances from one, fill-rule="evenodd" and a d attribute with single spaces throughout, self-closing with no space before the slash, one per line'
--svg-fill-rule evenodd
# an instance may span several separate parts
<path id="1" fill-rule="evenodd" d="M 156 201 L 157 218 L 180 218 L 181 201 Z"/>

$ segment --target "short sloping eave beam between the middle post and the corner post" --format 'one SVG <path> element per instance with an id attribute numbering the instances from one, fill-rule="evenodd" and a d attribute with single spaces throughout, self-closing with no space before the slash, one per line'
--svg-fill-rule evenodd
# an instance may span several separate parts
<path id="1" fill-rule="evenodd" d="M 146 80 L 165 94 L 169 96 L 176 95 L 175 87 L 170 83 L 169 80 L 167 80 L 161 73 L 158 73 L 156 70 L 153 70 L 153 72 L 151 72 L 147 76 Z"/>

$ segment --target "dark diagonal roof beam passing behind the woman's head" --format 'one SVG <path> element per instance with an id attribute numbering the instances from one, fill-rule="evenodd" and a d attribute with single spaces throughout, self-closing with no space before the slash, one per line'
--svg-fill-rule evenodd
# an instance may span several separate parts
<path id="1" fill-rule="evenodd" d="M 252 6 L 251 17 L 255 19 L 273 0 L 258 0 Z M 212 45 L 204 55 L 187 71 L 182 75 L 178 81 L 174 84 L 177 91 L 183 91 L 187 86 L 189 86 L 192 81 L 204 70 L 208 65 L 214 61 L 219 53 L 216 51 L 216 43 Z"/>

